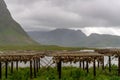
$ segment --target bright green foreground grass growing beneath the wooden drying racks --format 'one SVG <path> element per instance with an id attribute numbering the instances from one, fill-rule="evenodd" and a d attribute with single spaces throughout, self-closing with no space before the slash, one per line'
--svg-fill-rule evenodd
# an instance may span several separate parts
<path id="1" fill-rule="evenodd" d="M 113 66 L 116 68 L 115 66 Z M 9 69 L 10 70 L 10 69 Z M 5 79 L 5 71 L 3 69 L 3 78 L 2 80 L 30 80 L 29 68 L 19 68 L 18 71 L 14 69 L 14 73 L 11 74 L 8 72 L 8 79 Z M 59 80 L 57 69 L 55 68 L 41 68 L 37 73 L 37 78 L 32 80 Z M 117 76 L 117 70 L 112 70 L 109 73 L 106 68 L 104 71 L 101 68 L 97 68 L 97 76 L 93 76 L 93 68 L 89 69 L 89 73 L 86 70 L 76 68 L 76 67 L 63 67 L 62 68 L 62 79 L 61 80 L 120 80 L 120 77 Z"/>

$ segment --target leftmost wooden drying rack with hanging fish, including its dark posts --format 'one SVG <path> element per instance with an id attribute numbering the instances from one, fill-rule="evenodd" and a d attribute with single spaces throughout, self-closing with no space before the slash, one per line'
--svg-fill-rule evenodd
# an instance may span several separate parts
<path id="1" fill-rule="evenodd" d="M 0 79 L 2 79 L 2 64 L 5 63 L 5 77 L 8 74 L 8 63 L 11 63 L 11 73 L 13 73 L 13 62 L 16 62 L 18 70 L 18 62 L 30 62 L 30 78 L 33 78 L 32 67 L 34 67 L 34 77 L 36 77 L 36 69 L 40 58 L 44 57 L 44 52 L 39 51 L 5 51 L 0 53 Z M 39 60 L 39 61 L 38 61 Z M 33 63 L 34 61 L 34 63 Z M 34 66 L 32 66 L 34 64 Z"/>

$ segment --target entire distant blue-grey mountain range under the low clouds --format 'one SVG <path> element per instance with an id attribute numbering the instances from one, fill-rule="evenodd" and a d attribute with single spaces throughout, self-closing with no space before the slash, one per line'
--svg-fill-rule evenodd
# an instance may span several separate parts
<path id="1" fill-rule="evenodd" d="M 81 30 L 56 29 L 52 31 L 31 31 L 28 34 L 37 42 L 47 45 L 74 47 L 120 47 L 120 36 L 91 34 Z"/>

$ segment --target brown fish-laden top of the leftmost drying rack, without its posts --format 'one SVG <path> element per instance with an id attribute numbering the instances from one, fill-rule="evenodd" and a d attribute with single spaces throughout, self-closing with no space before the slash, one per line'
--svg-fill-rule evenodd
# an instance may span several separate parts
<path id="1" fill-rule="evenodd" d="M 30 61 L 33 58 L 42 58 L 44 57 L 44 52 L 40 51 L 3 51 L 3 54 L 0 54 L 0 61 Z"/>

